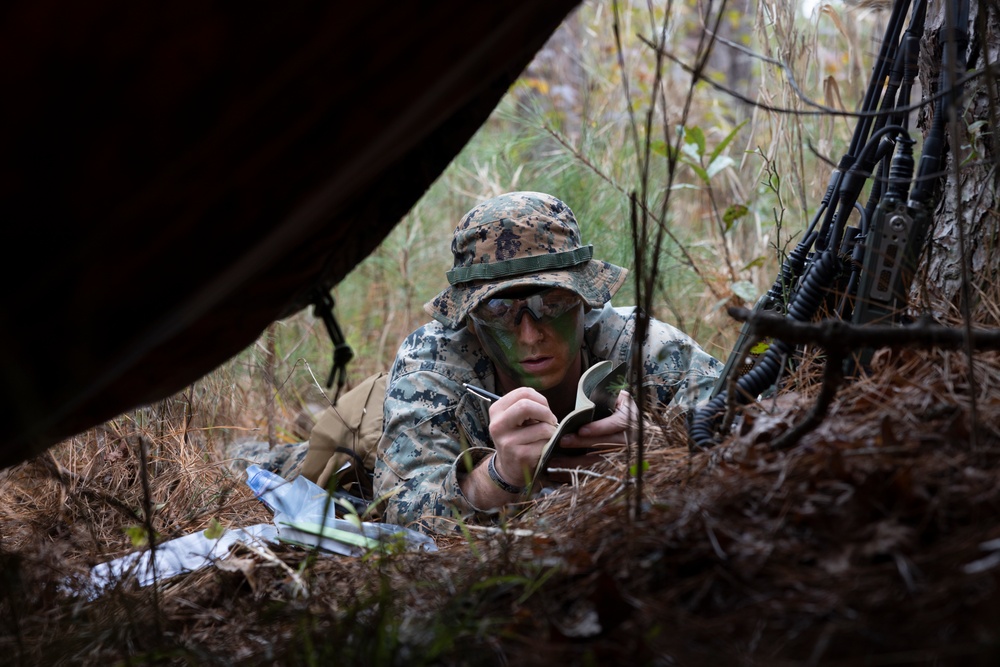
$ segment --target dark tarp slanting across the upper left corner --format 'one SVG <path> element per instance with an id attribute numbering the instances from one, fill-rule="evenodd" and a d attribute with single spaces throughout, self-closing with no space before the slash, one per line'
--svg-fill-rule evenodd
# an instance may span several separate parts
<path id="1" fill-rule="evenodd" d="M 576 4 L 5 5 L 0 466 L 336 284 Z"/>

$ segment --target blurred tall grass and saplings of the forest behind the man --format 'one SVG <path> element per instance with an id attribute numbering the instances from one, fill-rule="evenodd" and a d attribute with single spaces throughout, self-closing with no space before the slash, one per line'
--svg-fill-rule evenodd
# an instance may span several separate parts
<path id="1" fill-rule="evenodd" d="M 446 286 L 451 234 L 465 211 L 512 190 L 566 201 L 596 256 L 626 267 L 634 265 L 629 194 L 642 191 L 666 230 L 652 314 L 726 358 L 739 328 L 726 306 L 752 306 L 770 287 L 853 129 L 849 117 L 816 113 L 793 86 L 820 104 L 854 108 L 885 16 L 877 6 L 836 2 L 737 0 L 710 16 L 703 9 L 587 2 L 569 17 L 445 173 L 335 288 L 335 314 L 355 352 L 348 386 L 388 369 L 403 337 L 428 319 L 422 306 Z M 676 62 L 657 59 L 651 42 L 659 37 Z M 692 66 L 717 86 L 692 87 Z M 647 130 L 658 76 L 664 86 Z M 634 283 L 615 303 L 637 303 Z M 332 397 L 324 386 L 331 359 L 322 321 L 302 311 L 178 400 L 222 399 L 209 414 L 199 410 L 209 442 L 248 433 L 301 441 L 308 415 Z"/>

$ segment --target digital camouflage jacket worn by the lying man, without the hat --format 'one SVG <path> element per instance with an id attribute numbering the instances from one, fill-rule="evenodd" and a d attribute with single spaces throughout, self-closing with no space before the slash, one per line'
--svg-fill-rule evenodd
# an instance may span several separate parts
<path id="1" fill-rule="evenodd" d="M 587 313 L 584 365 L 628 361 L 634 308 L 606 305 Z M 660 406 L 685 408 L 708 398 L 721 365 L 679 330 L 652 320 L 643 346 L 642 382 Z M 493 363 L 468 329 L 431 322 L 405 340 L 385 398 L 385 427 L 375 463 L 375 496 L 395 491 L 383 519 L 406 525 L 423 520 L 447 529 L 453 512 L 473 507 L 458 486 L 460 474 L 493 452 L 489 406 L 468 382 L 496 391 Z M 463 456 L 465 455 L 465 456 Z"/>

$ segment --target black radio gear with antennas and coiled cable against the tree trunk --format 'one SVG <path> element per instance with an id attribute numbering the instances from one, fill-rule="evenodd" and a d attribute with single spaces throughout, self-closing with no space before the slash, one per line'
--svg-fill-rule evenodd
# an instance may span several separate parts
<path id="1" fill-rule="evenodd" d="M 945 4 L 953 14 L 938 40 L 942 70 L 916 178 L 908 114 L 927 0 L 895 0 L 848 150 L 831 173 L 802 240 L 754 314 L 770 311 L 797 322 L 837 318 L 859 325 L 903 321 L 935 204 L 945 120 L 961 97 L 954 76 L 966 64 L 969 2 Z M 861 206 L 858 199 L 869 180 L 868 201 Z M 853 211 L 859 214 L 857 226 L 847 224 Z M 716 431 L 730 402 L 744 405 L 776 391 L 779 376 L 795 363 L 796 348 L 781 340 L 767 341 L 760 354 L 749 354 L 751 321 L 743 325 L 709 401 L 690 414 L 692 451 L 718 443 Z M 861 350 L 845 362 L 850 366 L 845 370 L 864 372 L 870 358 L 871 350 Z"/>

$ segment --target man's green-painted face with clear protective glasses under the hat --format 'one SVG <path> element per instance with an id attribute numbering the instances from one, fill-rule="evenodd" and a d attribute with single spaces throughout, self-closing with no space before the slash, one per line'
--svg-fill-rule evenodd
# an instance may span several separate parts
<path id="1" fill-rule="evenodd" d="M 559 386 L 568 375 L 575 385 L 583 344 L 582 301 L 576 299 L 572 307 L 551 318 L 536 319 L 525 309 L 516 323 L 509 324 L 472 329 L 506 390 L 531 387 L 546 391 Z"/>

